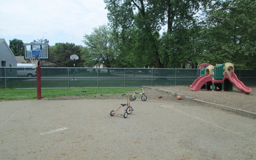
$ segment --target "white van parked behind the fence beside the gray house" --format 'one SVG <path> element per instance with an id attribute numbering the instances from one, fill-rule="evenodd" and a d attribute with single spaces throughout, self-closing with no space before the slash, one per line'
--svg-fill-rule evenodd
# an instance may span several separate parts
<path id="1" fill-rule="evenodd" d="M 18 76 L 36 76 L 36 68 L 32 68 L 32 64 L 18 63 L 17 64 L 17 75 Z"/>

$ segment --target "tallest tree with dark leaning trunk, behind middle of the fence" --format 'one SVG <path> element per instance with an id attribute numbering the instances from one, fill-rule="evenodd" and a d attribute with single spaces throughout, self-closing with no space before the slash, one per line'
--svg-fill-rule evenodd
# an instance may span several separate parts
<path id="1" fill-rule="evenodd" d="M 162 26 L 167 24 L 166 36 L 174 38 L 172 34 L 177 29 L 175 28 L 177 23 L 183 22 L 188 26 L 187 23 L 193 20 L 193 16 L 203 2 L 207 1 L 105 0 L 111 27 L 114 31 L 121 32 L 123 48 L 128 49 L 126 54 L 132 53 L 144 64 L 154 65 L 157 68 L 169 67 L 172 58 L 170 57 L 172 50 L 169 48 L 171 43 L 169 41 L 163 43 L 159 39 Z M 176 39 L 172 41 L 175 42 Z M 166 51 L 160 52 L 159 49 L 165 46 L 167 46 Z M 182 63 L 185 63 L 185 60 Z"/>

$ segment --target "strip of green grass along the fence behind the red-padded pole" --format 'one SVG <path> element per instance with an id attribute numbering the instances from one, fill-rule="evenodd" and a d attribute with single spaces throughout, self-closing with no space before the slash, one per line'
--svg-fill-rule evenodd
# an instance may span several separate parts
<path id="1" fill-rule="evenodd" d="M 60 96 L 93 96 L 96 94 L 122 94 L 135 91 L 140 88 L 63 88 L 42 89 L 42 98 L 53 98 Z M 86 91 L 78 93 L 79 91 Z M 36 99 L 36 89 L 0 89 L 0 100 L 27 100 Z"/>

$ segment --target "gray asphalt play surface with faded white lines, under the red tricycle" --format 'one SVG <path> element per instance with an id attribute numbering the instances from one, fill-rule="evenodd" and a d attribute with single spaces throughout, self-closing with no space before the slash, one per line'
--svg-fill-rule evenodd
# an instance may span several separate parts
<path id="1" fill-rule="evenodd" d="M 255 119 L 197 103 L 126 100 L 0 102 L 1 160 L 255 159 Z"/>

